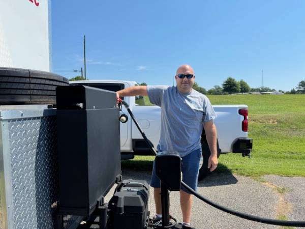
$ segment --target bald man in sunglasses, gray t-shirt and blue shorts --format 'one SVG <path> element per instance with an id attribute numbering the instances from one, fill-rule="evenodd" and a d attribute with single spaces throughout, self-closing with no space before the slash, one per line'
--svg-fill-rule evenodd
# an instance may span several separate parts
<path id="1" fill-rule="evenodd" d="M 211 151 L 208 168 L 210 171 L 217 168 L 217 131 L 213 123 L 216 114 L 208 98 L 192 89 L 195 74 L 191 66 L 180 66 L 176 71 L 175 80 L 176 87 L 137 86 L 120 90 L 116 92 L 116 96 L 148 96 L 151 103 L 161 107 L 161 136 L 157 149 L 159 152 L 179 153 L 182 158 L 182 180 L 197 190 L 202 128 Z M 161 189 L 155 163 L 150 186 L 154 187 L 156 217 L 161 218 Z M 190 225 L 192 204 L 193 196 L 182 187 L 180 206 L 185 225 Z"/>

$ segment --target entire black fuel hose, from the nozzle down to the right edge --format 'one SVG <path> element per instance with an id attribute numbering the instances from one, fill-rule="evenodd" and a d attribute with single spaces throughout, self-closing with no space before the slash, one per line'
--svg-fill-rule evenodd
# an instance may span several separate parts
<path id="1" fill-rule="evenodd" d="M 148 144 L 148 146 L 150 146 L 151 151 L 153 151 L 153 153 L 155 155 L 157 155 L 156 150 L 154 149 L 153 146 L 151 146 L 150 141 L 147 139 L 147 137 L 145 136 L 144 132 L 142 131 L 141 127 L 139 126 L 138 122 L 136 121 L 133 113 L 131 112 L 131 110 L 129 109 L 129 105 L 127 102 L 122 101 L 122 103 L 124 104 L 124 106 L 126 107 L 127 111 L 129 112 L 132 120 L 134 121 L 134 123 L 136 124 L 136 126 L 138 127 L 140 133 L 142 134 L 144 140 L 146 141 L 146 143 Z M 198 192 L 196 192 L 195 190 L 193 190 L 190 186 L 188 186 L 186 183 L 184 183 L 183 181 L 181 181 L 181 185 L 184 186 L 189 192 L 191 192 L 193 195 L 195 195 L 197 198 L 201 199 L 201 201 L 205 202 L 206 204 L 217 208 L 221 211 L 227 212 L 229 214 L 238 216 L 240 218 L 243 219 L 248 219 L 248 220 L 252 220 L 252 221 L 256 221 L 256 222 L 261 222 L 261 223 L 266 223 L 266 224 L 272 224 L 272 225 L 279 225 L 279 226 L 299 226 L 299 227 L 305 227 L 305 221 L 288 221 L 288 220 L 276 220 L 276 219 L 266 219 L 266 218 L 262 218 L 262 217 L 258 217 L 258 216 L 253 216 L 253 215 L 249 215 L 249 214 L 245 214 L 245 213 L 241 213 L 241 212 L 237 212 L 235 210 L 223 207 L 219 204 L 216 204 L 212 201 L 210 201 L 209 199 L 205 198 L 204 196 L 200 195 Z"/>

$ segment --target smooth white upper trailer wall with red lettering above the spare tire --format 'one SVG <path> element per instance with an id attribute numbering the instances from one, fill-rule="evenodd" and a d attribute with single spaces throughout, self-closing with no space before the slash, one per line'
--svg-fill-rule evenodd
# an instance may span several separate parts
<path id="1" fill-rule="evenodd" d="M 0 67 L 50 71 L 48 0 L 0 1 Z"/>

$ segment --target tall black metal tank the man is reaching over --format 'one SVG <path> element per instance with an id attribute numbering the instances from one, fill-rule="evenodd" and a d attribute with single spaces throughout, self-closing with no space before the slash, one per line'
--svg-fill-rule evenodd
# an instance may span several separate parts
<path id="1" fill-rule="evenodd" d="M 59 214 L 89 215 L 120 177 L 119 109 L 114 92 L 57 87 Z"/>

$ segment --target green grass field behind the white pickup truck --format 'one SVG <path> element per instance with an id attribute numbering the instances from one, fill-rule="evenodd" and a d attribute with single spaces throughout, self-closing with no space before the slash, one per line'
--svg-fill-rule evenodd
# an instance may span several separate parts
<path id="1" fill-rule="evenodd" d="M 224 95 L 208 98 L 214 105 L 248 105 L 249 137 L 253 138 L 251 159 L 240 154 L 221 155 L 217 173 L 231 172 L 256 178 L 268 174 L 305 177 L 305 95 Z M 123 166 L 150 169 L 152 160 L 153 157 L 137 156 L 133 161 L 125 161 Z"/>

